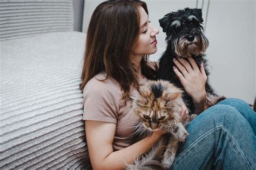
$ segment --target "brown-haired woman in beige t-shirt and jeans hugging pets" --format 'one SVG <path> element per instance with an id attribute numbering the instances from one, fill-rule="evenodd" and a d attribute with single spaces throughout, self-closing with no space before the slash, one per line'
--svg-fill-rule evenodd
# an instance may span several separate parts
<path id="1" fill-rule="evenodd" d="M 107 1 L 97 6 L 87 31 L 80 88 L 84 94 L 85 133 L 93 169 L 123 169 L 136 155 L 149 151 L 166 132 L 154 131 L 134 144 L 127 140 L 137 118 L 130 96 L 156 73 L 147 55 L 157 51 L 159 30 L 150 25 L 147 6 L 140 1 Z M 185 60 L 174 71 L 203 111 L 207 76 Z M 186 74 L 186 77 L 183 75 Z M 180 115 L 187 117 L 185 106 Z M 201 113 L 188 126 L 172 168 L 255 168 L 256 115 L 244 101 L 221 101 Z"/>

